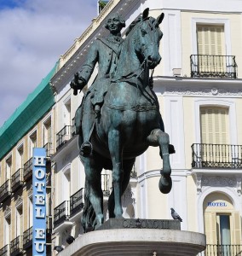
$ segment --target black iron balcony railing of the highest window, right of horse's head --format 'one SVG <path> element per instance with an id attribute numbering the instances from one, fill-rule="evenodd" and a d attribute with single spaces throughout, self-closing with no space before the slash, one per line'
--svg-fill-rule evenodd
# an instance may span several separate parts
<path id="1" fill-rule="evenodd" d="M 237 79 L 233 55 L 191 55 L 192 78 Z"/>

